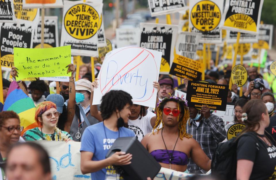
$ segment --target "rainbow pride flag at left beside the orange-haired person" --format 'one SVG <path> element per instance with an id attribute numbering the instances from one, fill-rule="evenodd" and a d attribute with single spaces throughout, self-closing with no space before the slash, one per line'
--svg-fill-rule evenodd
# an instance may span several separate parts
<path id="1" fill-rule="evenodd" d="M 14 111 L 18 114 L 20 126 L 24 127 L 21 134 L 26 130 L 37 127 L 37 123 L 34 120 L 34 102 L 20 89 L 16 81 L 12 81 L 9 86 L 3 111 Z"/>

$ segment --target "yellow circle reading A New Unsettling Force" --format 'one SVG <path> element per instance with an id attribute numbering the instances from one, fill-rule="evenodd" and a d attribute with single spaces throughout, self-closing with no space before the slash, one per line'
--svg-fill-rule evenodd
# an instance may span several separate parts
<path id="1" fill-rule="evenodd" d="M 212 1 L 200 1 L 191 9 L 191 22 L 200 31 L 212 31 L 221 21 L 221 11 Z"/>

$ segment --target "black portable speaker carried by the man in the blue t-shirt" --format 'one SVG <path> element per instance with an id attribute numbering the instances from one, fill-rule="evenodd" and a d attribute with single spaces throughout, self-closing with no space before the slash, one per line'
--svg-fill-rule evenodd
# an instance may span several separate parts
<path id="1" fill-rule="evenodd" d="M 145 180 L 147 177 L 154 178 L 161 169 L 161 165 L 150 155 L 136 137 L 117 138 L 106 158 L 118 151 L 132 154 L 131 164 L 114 166 L 124 179 Z"/>

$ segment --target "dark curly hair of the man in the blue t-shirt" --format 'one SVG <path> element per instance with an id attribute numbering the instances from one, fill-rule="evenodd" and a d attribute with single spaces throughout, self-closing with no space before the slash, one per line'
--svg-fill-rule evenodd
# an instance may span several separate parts
<path id="1" fill-rule="evenodd" d="M 116 110 L 121 111 L 127 103 L 132 105 L 132 97 L 122 90 L 111 90 L 101 98 L 101 117 L 106 120 Z"/>

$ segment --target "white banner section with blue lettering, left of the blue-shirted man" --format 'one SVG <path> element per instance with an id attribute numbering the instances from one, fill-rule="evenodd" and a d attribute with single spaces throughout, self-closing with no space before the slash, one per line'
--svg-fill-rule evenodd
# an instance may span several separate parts
<path id="1" fill-rule="evenodd" d="M 81 143 L 69 141 L 34 141 L 49 154 L 52 179 L 91 179 L 90 174 L 81 172 Z"/>

